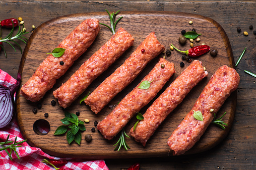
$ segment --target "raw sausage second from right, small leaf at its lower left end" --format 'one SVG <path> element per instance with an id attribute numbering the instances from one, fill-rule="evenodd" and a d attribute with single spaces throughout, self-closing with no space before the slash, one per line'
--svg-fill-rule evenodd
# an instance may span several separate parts
<path id="1" fill-rule="evenodd" d="M 131 128 L 130 134 L 134 139 L 145 146 L 170 112 L 207 75 L 202 62 L 195 60 L 191 63 L 147 109 L 143 114 L 144 119 L 138 123 L 135 131 L 134 127 Z"/>

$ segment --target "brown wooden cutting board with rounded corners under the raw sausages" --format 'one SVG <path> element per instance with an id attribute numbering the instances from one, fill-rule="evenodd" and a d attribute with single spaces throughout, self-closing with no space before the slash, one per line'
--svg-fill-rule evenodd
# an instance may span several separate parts
<path id="1" fill-rule="evenodd" d="M 116 30 L 119 27 L 123 27 L 135 38 L 134 46 L 127 50 L 108 70 L 100 75 L 93 83 L 87 88 L 87 90 L 66 110 L 71 113 L 80 112 L 79 119 L 89 119 L 90 122 L 86 123 L 86 131 L 82 132 L 81 145 L 73 142 L 68 144 L 65 135 L 53 135 L 56 128 L 62 125 L 60 119 L 64 118 L 63 110 L 58 106 L 52 106 L 50 103 L 54 99 L 52 92 L 56 90 L 62 83 L 66 82 L 70 76 L 95 53 L 102 45 L 107 42 L 112 36 L 110 30 L 105 26 L 100 26 L 101 30 L 92 46 L 83 54 L 74 65 L 57 80 L 56 84 L 46 95 L 41 99 L 41 109 L 37 109 L 38 112 L 34 114 L 33 108 L 37 108 L 37 103 L 32 103 L 26 100 L 20 93 L 17 95 L 17 111 L 18 122 L 23 136 L 28 140 L 31 146 L 39 147 L 44 152 L 65 157 L 83 157 L 83 158 L 129 158 L 129 157 L 155 157 L 155 156 L 168 156 L 169 146 L 167 145 L 167 139 L 171 135 L 172 131 L 178 126 L 183 117 L 189 112 L 200 93 L 204 89 L 205 85 L 210 80 L 210 77 L 214 72 L 222 65 L 228 65 L 234 67 L 234 59 L 231 51 L 228 37 L 222 27 L 214 20 L 187 13 L 177 12 L 120 12 L 116 19 L 123 16 L 120 22 L 116 26 Z M 74 14 L 68 16 L 62 16 L 52 19 L 48 22 L 40 25 L 31 35 L 28 40 L 27 46 L 24 50 L 19 72 L 22 73 L 23 85 L 33 74 L 39 64 L 47 57 L 46 53 L 50 53 L 56 46 L 66 38 L 72 32 L 77 25 L 88 18 L 97 18 L 100 23 L 109 25 L 109 17 L 106 12 L 104 13 L 83 13 Z M 192 25 L 188 22 L 193 21 Z M 94 114 L 90 108 L 83 102 L 79 104 L 79 101 L 89 92 L 93 91 L 106 77 L 114 72 L 126 58 L 128 58 L 138 45 L 149 35 L 151 32 L 155 32 L 156 36 L 161 44 L 169 49 L 172 43 L 177 48 L 185 51 L 190 49 L 189 41 L 186 45 L 180 46 L 178 38 L 181 35 L 182 30 L 191 31 L 195 28 L 196 32 L 202 34 L 200 36 L 201 41 L 194 43 L 194 46 L 205 43 L 211 48 L 218 49 L 218 55 L 212 57 L 210 53 L 197 58 L 201 60 L 203 65 L 208 71 L 208 77 L 203 79 L 190 93 L 184 98 L 183 102 L 174 109 L 166 120 L 155 131 L 154 135 L 143 147 L 142 144 L 136 142 L 132 137 L 125 138 L 127 144 L 131 147 L 129 150 L 121 148 L 119 151 L 114 150 L 113 144 L 119 139 L 119 135 L 113 140 L 106 140 L 101 133 L 96 129 L 96 132 L 92 132 L 91 128 L 94 126 L 94 121 L 102 120 L 108 113 L 111 112 L 111 107 L 116 105 L 126 94 L 128 94 L 142 79 L 146 76 L 150 70 L 157 63 L 159 57 L 163 57 L 164 54 L 160 54 L 156 59 L 152 60 L 143 72 L 122 92 L 120 92 L 114 99 L 97 115 Z M 183 61 L 185 66 L 181 68 L 179 66 L 182 54 L 177 51 L 172 51 L 170 57 L 166 59 L 175 64 L 176 73 L 170 78 L 163 89 L 158 95 L 140 112 L 144 113 L 146 109 L 153 103 L 153 101 L 175 80 L 175 78 L 189 65 L 188 62 Z M 192 59 L 194 60 L 194 58 Z M 228 124 L 226 130 L 211 124 L 205 134 L 201 137 L 200 141 L 185 154 L 198 153 L 208 150 L 223 140 L 223 138 L 229 132 L 232 121 L 234 118 L 236 106 L 236 92 L 233 92 L 231 96 L 225 101 L 222 108 L 219 110 L 217 117 L 220 117 L 224 112 L 227 112 L 223 118 L 224 122 Z M 48 117 L 44 116 L 48 113 Z M 39 121 L 39 123 L 38 123 Z M 135 124 L 136 118 L 134 117 L 126 126 L 125 131 L 129 132 L 131 127 Z M 49 124 L 50 130 L 47 134 L 40 133 L 37 126 L 41 126 L 40 123 Z M 96 128 L 96 127 L 95 127 Z M 85 134 L 91 134 L 93 139 L 91 142 L 86 142 L 84 139 Z"/>

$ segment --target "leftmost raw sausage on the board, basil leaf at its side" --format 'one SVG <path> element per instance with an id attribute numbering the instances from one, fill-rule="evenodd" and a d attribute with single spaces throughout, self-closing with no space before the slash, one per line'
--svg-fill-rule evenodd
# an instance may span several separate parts
<path id="1" fill-rule="evenodd" d="M 22 86 L 21 94 L 28 100 L 39 101 L 93 43 L 100 30 L 97 19 L 83 21 L 56 48 L 65 53 L 55 58 L 51 54 L 40 64 L 32 77 Z M 59 63 L 63 61 L 64 64 Z"/>

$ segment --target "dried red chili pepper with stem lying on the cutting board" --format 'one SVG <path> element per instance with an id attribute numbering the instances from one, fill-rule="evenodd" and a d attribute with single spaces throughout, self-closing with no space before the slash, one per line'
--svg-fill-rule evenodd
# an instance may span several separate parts
<path id="1" fill-rule="evenodd" d="M 207 53 L 208 51 L 210 51 L 210 47 L 207 46 L 207 45 L 203 45 L 203 46 L 196 46 L 196 47 L 193 47 L 187 51 L 180 51 L 178 50 L 176 47 L 174 47 L 172 44 L 171 46 L 177 50 L 178 52 L 181 52 L 181 53 L 185 53 L 187 56 L 189 57 L 197 57 L 197 56 L 200 56 L 202 54 L 205 54 Z"/>

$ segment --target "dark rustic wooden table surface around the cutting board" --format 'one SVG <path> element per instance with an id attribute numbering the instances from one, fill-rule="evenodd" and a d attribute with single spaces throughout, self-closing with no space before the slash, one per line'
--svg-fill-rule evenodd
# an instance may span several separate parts
<path id="1" fill-rule="evenodd" d="M 52 18 L 74 13 L 116 12 L 120 11 L 176 11 L 203 15 L 217 21 L 225 30 L 234 55 L 235 62 L 244 47 L 247 50 L 236 67 L 240 75 L 237 89 L 237 107 L 234 122 L 228 136 L 211 150 L 195 155 L 152 157 L 137 159 L 105 159 L 109 169 L 125 169 L 135 162 L 141 163 L 140 169 L 256 169 L 256 117 L 255 94 L 256 78 L 244 70 L 256 73 L 256 2 L 255 1 L 1 1 L 0 20 L 22 17 L 27 31 Z M 166 23 L 168 25 L 168 23 Z M 254 29 L 249 30 L 253 25 Z M 244 36 L 236 31 L 240 27 L 248 32 Z M 171 30 L 170 30 L 171 31 Z M 6 32 L 5 32 L 6 33 Z M 30 35 L 30 34 L 29 34 Z M 26 37 L 29 37 L 26 35 Z M 3 35 L 4 37 L 5 35 Z M 8 57 L 0 52 L 0 68 L 16 78 L 21 59 L 17 46 L 15 53 L 7 45 Z M 25 45 L 22 44 L 22 49 Z"/>

